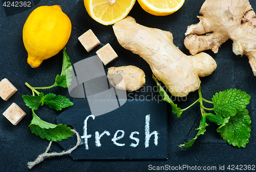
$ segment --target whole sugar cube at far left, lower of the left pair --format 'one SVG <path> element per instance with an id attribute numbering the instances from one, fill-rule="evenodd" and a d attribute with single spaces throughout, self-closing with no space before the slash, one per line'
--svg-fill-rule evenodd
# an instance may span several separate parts
<path id="1" fill-rule="evenodd" d="M 26 113 L 16 104 L 12 103 L 3 115 L 13 124 L 16 125 Z"/>

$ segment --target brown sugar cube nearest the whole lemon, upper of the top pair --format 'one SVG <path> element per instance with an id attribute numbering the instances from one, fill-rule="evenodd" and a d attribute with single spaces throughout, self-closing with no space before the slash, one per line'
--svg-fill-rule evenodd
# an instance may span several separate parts
<path id="1" fill-rule="evenodd" d="M 95 36 L 91 29 L 79 36 L 78 40 L 81 42 L 82 46 L 87 52 L 91 51 L 100 44 L 99 39 Z"/>

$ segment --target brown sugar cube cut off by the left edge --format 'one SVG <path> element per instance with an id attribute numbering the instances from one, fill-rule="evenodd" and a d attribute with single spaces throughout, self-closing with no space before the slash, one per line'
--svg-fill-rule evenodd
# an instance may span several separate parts
<path id="1" fill-rule="evenodd" d="M 13 84 L 6 78 L 0 81 L 0 97 L 4 100 L 8 100 L 17 89 L 13 86 Z"/>

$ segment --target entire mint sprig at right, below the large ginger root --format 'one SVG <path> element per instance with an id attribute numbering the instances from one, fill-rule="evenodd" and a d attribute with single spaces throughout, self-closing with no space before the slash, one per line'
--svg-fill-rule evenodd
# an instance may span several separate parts
<path id="1" fill-rule="evenodd" d="M 246 94 L 244 91 L 237 89 L 229 89 L 223 92 L 216 93 L 212 97 L 212 101 L 206 100 L 202 97 L 201 87 L 198 89 L 199 99 L 197 99 L 193 104 L 189 105 L 185 109 L 181 110 L 174 104 L 167 93 L 161 88 L 158 80 L 153 76 L 156 81 L 159 94 L 164 97 L 164 100 L 172 105 L 173 113 L 183 112 L 189 107 L 193 106 L 195 103 L 200 103 L 200 112 L 202 119 L 200 125 L 196 130 L 199 130 L 196 137 L 189 140 L 188 142 L 179 145 L 180 147 L 190 147 L 196 141 L 196 139 L 203 135 L 206 131 L 205 127 L 208 126 L 206 119 L 215 122 L 220 127 L 217 132 L 220 133 L 221 138 L 227 141 L 229 144 L 238 147 L 245 147 L 249 142 L 251 133 L 251 120 L 248 115 L 248 110 L 246 105 L 249 104 L 250 95 Z M 214 105 L 213 108 L 207 108 L 203 105 L 203 102 L 211 103 Z M 214 111 L 215 113 L 206 113 L 206 111 Z M 177 113 L 181 114 L 181 113 Z M 177 115 L 179 117 L 179 115 Z"/>

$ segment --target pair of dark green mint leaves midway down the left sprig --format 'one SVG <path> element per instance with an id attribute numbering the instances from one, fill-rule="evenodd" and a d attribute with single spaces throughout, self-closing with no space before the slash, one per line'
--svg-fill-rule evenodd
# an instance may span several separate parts
<path id="1" fill-rule="evenodd" d="M 29 108 L 31 108 L 32 110 L 37 110 L 40 104 L 45 104 L 51 109 L 55 109 L 57 111 L 73 105 L 70 99 L 66 98 L 65 96 L 56 96 L 52 93 L 45 96 L 44 93 L 39 93 L 38 96 L 23 95 L 22 97 L 26 102 L 26 105 L 29 106 Z"/>

